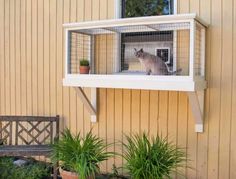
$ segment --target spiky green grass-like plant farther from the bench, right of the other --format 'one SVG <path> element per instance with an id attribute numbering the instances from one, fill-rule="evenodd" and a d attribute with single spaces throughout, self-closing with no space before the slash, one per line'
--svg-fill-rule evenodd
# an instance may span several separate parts
<path id="1" fill-rule="evenodd" d="M 123 143 L 125 169 L 134 179 L 171 178 L 177 167 L 183 167 L 186 156 L 183 151 L 168 143 L 167 138 L 157 136 L 149 140 L 147 135 L 126 136 Z"/>

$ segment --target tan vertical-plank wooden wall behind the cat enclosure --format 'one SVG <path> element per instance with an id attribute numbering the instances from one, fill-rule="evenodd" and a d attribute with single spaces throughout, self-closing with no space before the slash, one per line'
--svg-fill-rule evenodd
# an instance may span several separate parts
<path id="1" fill-rule="evenodd" d="M 179 0 L 179 13 L 196 12 L 207 31 L 204 133 L 183 92 L 98 90 L 98 120 L 91 124 L 74 89 L 62 86 L 62 24 L 114 17 L 113 0 L 0 0 L 0 114 L 61 116 L 61 129 L 93 132 L 114 142 L 122 133 L 161 133 L 186 148 L 187 178 L 236 178 L 236 0 Z M 106 45 L 104 37 L 100 45 Z M 99 71 L 106 71 L 109 54 Z M 89 89 L 85 89 L 89 94 Z M 120 151 L 119 147 L 110 150 Z M 110 170 L 121 158 L 102 165 Z"/>

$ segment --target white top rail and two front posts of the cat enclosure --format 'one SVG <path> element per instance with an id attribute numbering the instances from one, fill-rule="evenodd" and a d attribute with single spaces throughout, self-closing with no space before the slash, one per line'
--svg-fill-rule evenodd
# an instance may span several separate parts
<path id="1" fill-rule="evenodd" d="M 89 21 L 83 23 L 70 23 L 64 24 L 65 27 L 65 76 L 68 73 L 68 56 L 70 46 L 68 43 L 69 31 L 72 30 L 82 30 L 82 29 L 94 29 L 94 28 L 107 28 L 107 27 L 118 27 L 118 26 L 127 26 L 127 25 L 148 25 L 148 24 L 168 24 L 168 23 L 179 23 L 179 22 L 188 22 L 190 23 L 190 76 L 193 79 L 193 66 L 194 66 L 194 43 L 195 43 L 195 26 L 196 22 L 202 24 L 203 27 L 206 27 L 204 22 L 201 22 L 196 14 L 181 14 L 181 15 L 168 15 L 168 16 L 152 16 L 152 17 L 138 17 L 138 18 L 126 18 L 126 19 L 117 19 L 117 20 L 102 20 L 102 21 Z M 92 44 L 92 43 L 91 43 Z"/>

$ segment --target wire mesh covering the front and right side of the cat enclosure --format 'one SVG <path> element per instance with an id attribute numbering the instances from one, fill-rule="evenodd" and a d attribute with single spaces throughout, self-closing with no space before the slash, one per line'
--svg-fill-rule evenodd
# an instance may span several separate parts
<path id="1" fill-rule="evenodd" d="M 163 63 L 168 73 L 189 75 L 190 24 L 169 23 L 137 26 L 115 26 L 82 29 L 70 32 L 68 72 L 79 74 L 81 60 L 90 62 L 90 73 L 152 74 L 148 68 Z M 195 75 L 200 75 L 201 28 L 195 39 Z M 142 56 L 137 56 L 142 51 Z"/>

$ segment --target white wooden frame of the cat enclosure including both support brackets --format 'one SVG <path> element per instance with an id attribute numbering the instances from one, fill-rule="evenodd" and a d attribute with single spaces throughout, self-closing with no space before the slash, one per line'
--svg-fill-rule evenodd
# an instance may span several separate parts
<path id="1" fill-rule="evenodd" d="M 118 1 L 118 0 L 117 0 Z M 83 29 L 104 28 L 127 26 L 127 25 L 152 25 L 152 24 L 168 24 L 168 23 L 190 23 L 190 59 L 189 59 L 189 76 L 145 76 L 145 75 L 129 75 L 116 73 L 111 75 L 80 75 L 70 74 L 68 68 L 69 62 L 69 38 L 70 31 L 80 31 Z M 201 75 L 195 76 L 194 60 L 195 60 L 195 33 L 196 24 L 202 26 L 201 30 Z M 83 23 L 64 24 L 65 27 L 65 78 L 64 86 L 75 87 L 77 93 L 81 97 L 85 106 L 91 113 L 91 121 L 96 122 L 96 88 L 128 88 L 128 89 L 152 89 L 152 90 L 175 90 L 186 91 L 189 96 L 190 105 L 196 120 L 196 132 L 203 132 L 203 114 L 204 114 L 204 89 L 207 84 L 205 81 L 205 28 L 207 25 L 201 21 L 196 14 L 167 15 L 155 17 L 139 17 L 116 20 L 90 21 Z M 115 33 L 115 32 L 112 32 Z M 90 44 L 93 44 L 93 37 L 90 37 Z M 93 47 L 90 47 L 93 51 Z M 93 52 L 89 54 L 91 59 L 92 71 L 95 70 L 93 61 Z M 118 65 L 118 64 L 117 64 Z M 115 69 L 117 69 L 117 65 Z M 117 70 L 114 70 L 117 71 Z M 82 92 L 81 87 L 90 87 L 91 102 Z"/>

